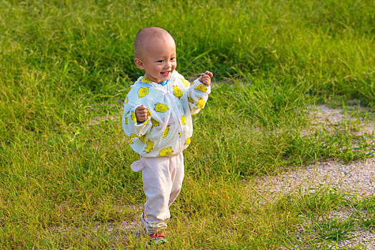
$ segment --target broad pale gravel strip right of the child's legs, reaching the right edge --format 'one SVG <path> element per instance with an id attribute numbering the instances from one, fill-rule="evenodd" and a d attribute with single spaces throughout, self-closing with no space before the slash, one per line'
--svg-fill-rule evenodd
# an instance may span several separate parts
<path id="1" fill-rule="evenodd" d="M 369 196 L 375 194 L 375 160 L 354 161 L 342 164 L 336 161 L 325 161 L 310 165 L 306 169 L 287 171 L 279 176 L 264 176 L 257 179 L 255 186 L 271 201 L 281 194 L 298 191 L 304 194 L 321 187 L 340 189 L 349 194 Z"/>

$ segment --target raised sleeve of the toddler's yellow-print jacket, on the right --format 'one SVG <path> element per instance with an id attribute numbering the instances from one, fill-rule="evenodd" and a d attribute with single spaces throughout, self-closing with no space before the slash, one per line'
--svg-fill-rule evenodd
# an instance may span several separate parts
<path id="1" fill-rule="evenodd" d="M 211 93 L 211 86 L 205 86 L 196 79 L 193 84 L 187 87 L 188 101 L 191 114 L 198 114 L 206 105 L 209 94 Z"/>

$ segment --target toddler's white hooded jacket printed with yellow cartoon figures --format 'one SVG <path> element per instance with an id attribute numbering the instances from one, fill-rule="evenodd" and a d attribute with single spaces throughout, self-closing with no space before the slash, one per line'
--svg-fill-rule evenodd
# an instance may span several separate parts
<path id="1" fill-rule="evenodd" d="M 204 107 L 210 92 L 211 86 L 204 86 L 198 79 L 191 85 L 177 71 L 165 86 L 139 77 L 126 96 L 122 117 L 131 149 L 144 157 L 180 154 L 193 134 L 191 115 Z M 146 121 L 139 124 L 135 111 L 141 104 L 149 112 Z"/>

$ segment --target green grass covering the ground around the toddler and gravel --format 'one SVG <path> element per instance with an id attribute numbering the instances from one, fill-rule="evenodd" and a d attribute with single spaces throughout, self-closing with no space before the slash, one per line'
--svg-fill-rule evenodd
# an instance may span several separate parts
<path id="1" fill-rule="evenodd" d="M 184 152 L 166 249 L 286 246 L 301 214 L 330 211 L 342 195 L 261 204 L 252 179 L 374 155 L 374 134 L 356 134 L 358 122 L 311 127 L 308 116 L 325 103 L 374 119 L 373 1 L 0 1 L 0 9 L 1 249 L 144 248 L 143 234 L 105 226 L 138 221 L 144 202 L 120 120 L 141 74 L 132 44 L 145 26 L 174 36 L 180 73 L 215 76 Z M 367 113 L 349 111 L 353 102 Z M 373 213 L 374 201 L 356 206 Z"/>

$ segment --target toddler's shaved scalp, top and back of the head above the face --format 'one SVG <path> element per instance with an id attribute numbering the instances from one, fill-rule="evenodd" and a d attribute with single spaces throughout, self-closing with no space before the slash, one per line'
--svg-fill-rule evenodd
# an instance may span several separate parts
<path id="1" fill-rule="evenodd" d="M 134 39 L 134 56 L 141 58 L 143 51 L 145 51 L 150 44 L 153 44 L 155 39 L 171 39 L 171 41 L 174 42 L 171 34 L 165 29 L 146 27 L 136 34 L 136 39 Z"/>

